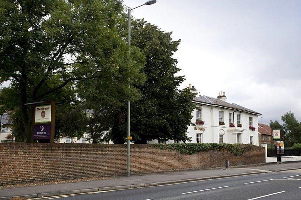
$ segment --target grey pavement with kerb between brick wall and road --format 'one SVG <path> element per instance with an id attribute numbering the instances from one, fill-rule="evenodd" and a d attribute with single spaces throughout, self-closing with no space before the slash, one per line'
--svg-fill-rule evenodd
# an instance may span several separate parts
<path id="1" fill-rule="evenodd" d="M 271 173 L 275 171 L 293 169 L 301 169 L 301 162 L 247 166 L 228 169 L 206 169 L 191 171 L 173 171 L 153 174 L 135 174 L 131 175 L 130 177 L 120 176 L 116 177 L 115 179 L 1 189 L 0 199 L 9 199 L 11 197 L 18 196 L 23 198 L 37 198 L 56 195 L 70 195 L 86 192 L 108 191 L 116 189 L 158 186 L 171 183 L 183 183 L 188 181 L 208 180 L 223 177 Z"/>

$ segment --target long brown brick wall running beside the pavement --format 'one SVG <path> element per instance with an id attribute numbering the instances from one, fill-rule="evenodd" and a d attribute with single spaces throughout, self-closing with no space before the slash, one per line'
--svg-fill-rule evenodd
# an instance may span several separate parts
<path id="1" fill-rule="evenodd" d="M 209 151 L 181 155 L 154 145 L 131 145 L 131 173 L 265 163 L 264 148 L 242 156 Z M 0 185 L 126 174 L 124 144 L 0 144 Z"/>

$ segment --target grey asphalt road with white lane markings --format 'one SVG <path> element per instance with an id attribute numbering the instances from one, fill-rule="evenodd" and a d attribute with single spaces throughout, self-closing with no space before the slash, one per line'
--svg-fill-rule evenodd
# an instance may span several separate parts
<path id="1" fill-rule="evenodd" d="M 301 199 L 301 170 L 43 199 Z"/>

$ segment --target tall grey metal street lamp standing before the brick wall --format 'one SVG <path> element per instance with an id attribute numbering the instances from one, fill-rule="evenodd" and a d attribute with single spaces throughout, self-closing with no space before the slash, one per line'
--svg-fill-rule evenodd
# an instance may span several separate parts
<path id="1" fill-rule="evenodd" d="M 152 5 L 156 3 L 156 0 L 149 0 L 145 2 L 144 4 L 137 6 L 136 8 L 139 8 L 143 5 Z M 131 10 L 134 10 L 135 8 L 128 9 L 128 44 L 129 44 L 129 59 L 131 57 Z M 129 62 L 130 64 L 130 62 Z M 131 87 L 131 83 L 129 83 L 129 88 Z M 130 176 L 130 111 L 131 111 L 131 102 L 128 101 L 128 134 L 127 134 L 127 156 L 126 156 L 126 175 Z"/>

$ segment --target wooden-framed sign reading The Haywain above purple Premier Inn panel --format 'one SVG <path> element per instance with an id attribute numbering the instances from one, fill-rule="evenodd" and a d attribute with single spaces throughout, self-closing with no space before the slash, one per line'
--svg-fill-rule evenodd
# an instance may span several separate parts
<path id="1" fill-rule="evenodd" d="M 54 143 L 55 101 L 37 104 L 33 114 L 33 140 Z"/>

